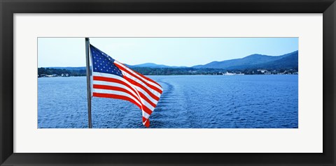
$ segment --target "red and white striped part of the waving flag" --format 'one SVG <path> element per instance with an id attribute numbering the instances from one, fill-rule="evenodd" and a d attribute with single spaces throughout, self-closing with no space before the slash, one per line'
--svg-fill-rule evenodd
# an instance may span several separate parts
<path id="1" fill-rule="evenodd" d="M 130 101 L 142 110 L 142 123 L 149 127 L 148 118 L 160 100 L 162 86 L 123 63 L 114 61 L 114 64 L 121 70 L 123 77 L 92 72 L 92 96 Z"/>

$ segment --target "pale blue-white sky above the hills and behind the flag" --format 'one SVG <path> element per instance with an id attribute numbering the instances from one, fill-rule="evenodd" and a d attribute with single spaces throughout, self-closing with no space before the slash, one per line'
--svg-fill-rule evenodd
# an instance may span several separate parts
<path id="1" fill-rule="evenodd" d="M 298 38 L 90 38 L 120 63 L 195 66 L 298 50 Z M 38 68 L 85 66 L 85 38 L 38 38 Z"/>

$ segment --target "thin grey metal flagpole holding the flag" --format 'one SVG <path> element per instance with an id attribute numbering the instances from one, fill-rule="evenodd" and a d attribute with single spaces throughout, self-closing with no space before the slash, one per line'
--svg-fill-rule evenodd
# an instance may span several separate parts
<path id="1" fill-rule="evenodd" d="M 91 119 L 91 84 L 90 84 L 90 56 L 89 56 L 90 39 L 85 38 L 86 49 L 86 86 L 87 86 L 87 114 L 89 120 L 89 128 L 92 128 Z"/>

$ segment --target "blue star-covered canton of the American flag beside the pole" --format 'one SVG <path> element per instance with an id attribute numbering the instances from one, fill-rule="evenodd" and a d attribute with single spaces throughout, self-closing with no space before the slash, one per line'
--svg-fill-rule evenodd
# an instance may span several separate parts
<path id="1" fill-rule="evenodd" d="M 92 69 L 94 72 L 109 73 L 123 77 L 121 70 L 114 64 L 114 59 L 98 50 L 93 45 L 90 45 L 92 57 Z"/>

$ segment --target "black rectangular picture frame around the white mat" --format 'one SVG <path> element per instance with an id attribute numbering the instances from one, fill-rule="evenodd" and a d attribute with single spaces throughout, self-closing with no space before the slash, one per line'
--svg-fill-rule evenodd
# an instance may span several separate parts
<path id="1" fill-rule="evenodd" d="M 1 165 L 335 165 L 336 163 L 335 0 L 0 0 L 0 10 Z M 13 153 L 14 13 L 323 13 L 323 153 Z"/>

